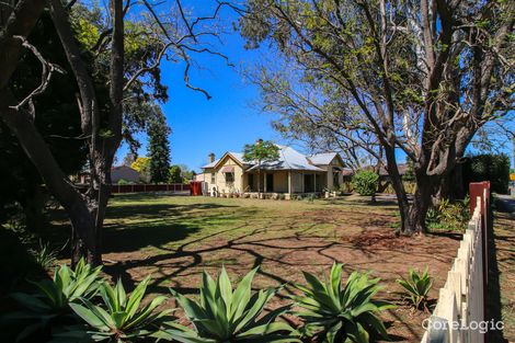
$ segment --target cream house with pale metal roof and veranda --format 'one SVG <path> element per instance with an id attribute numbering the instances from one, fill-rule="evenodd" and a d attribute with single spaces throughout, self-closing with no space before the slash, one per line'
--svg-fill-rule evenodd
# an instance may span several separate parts
<path id="1" fill-rule="evenodd" d="M 305 156 L 291 147 L 277 146 L 279 159 L 262 163 L 243 160 L 243 153 L 228 151 L 220 159 L 209 155 L 209 163 L 196 180 L 207 184 L 214 194 L 238 193 L 316 194 L 339 187 L 342 183 L 343 160 L 336 152 Z M 258 182 L 260 179 L 261 182 Z"/>

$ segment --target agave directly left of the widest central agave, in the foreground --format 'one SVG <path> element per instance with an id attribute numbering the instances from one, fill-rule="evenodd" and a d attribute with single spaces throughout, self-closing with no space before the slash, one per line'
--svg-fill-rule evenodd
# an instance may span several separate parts
<path id="1" fill-rule="evenodd" d="M 133 342 L 146 339 L 159 331 L 160 324 L 171 310 L 156 311 L 167 297 L 156 297 L 148 305 L 140 307 L 150 277 L 145 278 L 134 291 L 127 296 L 122 282 L 115 287 L 104 282 L 100 287 L 103 306 L 96 306 L 88 299 L 82 305 L 70 304 L 71 309 L 89 325 L 87 335 L 95 342 Z M 80 338 L 83 330 L 72 328 L 60 335 Z"/>

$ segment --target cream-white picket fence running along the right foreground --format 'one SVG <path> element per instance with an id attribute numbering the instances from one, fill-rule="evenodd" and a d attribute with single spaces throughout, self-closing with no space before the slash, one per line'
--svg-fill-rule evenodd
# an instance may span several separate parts
<path id="1" fill-rule="evenodd" d="M 483 199 L 487 194 L 483 194 Z M 472 219 L 459 244 L 458 255 L 439 289 L 438 302 L 422 343 L 483 343 L 484 333 L 478 324 L 484 320 L 483 299 L 483 233 L 478 196 Z M 488 213 L 488 211 L 484 211 Z"/>

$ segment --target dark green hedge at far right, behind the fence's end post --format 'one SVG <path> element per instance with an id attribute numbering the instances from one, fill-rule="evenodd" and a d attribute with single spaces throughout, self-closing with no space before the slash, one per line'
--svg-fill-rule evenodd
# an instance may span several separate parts
<path id="1" fill-rule="evenodd" d="M 506 194 L 510 184 L 510 157 L 501 155 L 478 155 L 470 157 L 462 165 L 464 186 L 470 182 L 490 181 L 492 192 Z"/>

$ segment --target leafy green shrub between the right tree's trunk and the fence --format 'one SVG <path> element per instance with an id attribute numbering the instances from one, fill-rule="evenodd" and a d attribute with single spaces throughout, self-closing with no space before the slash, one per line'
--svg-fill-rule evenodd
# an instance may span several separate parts
<path id="1" fill-rule="evenodd" d="M 451 203 L 442 199 L 435 207 L 431 207 L 426 214 L 426 225 L 430 230 L 464 232 L 470 220 L 470 198 Z"/>

